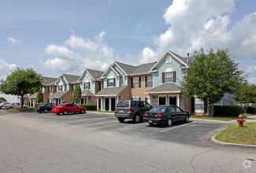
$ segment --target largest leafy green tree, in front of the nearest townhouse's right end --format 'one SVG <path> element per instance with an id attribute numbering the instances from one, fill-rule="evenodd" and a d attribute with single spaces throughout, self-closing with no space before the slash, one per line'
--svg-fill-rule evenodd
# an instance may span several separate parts
<path id="1" fill-rule="evenodd" d="M 186 70 L 181 87 L 185 96 L 197 96 L 206 101 L 208 116 L 213 116 L 213 104 L 224 97 L 225 93 L 234 94 L 243 83 L 243 71 L 229 58 L 228 50 L 204 50 L 193 53 L 194 61 Z"/>

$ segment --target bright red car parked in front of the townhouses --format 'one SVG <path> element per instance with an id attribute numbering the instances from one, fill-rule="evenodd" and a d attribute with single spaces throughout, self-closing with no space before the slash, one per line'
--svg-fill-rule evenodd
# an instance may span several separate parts
<path id="1" fill-rule="evenodd" d="M 58 106 L 54 106 L 51 109 L 51 112 L 54 112 L 57 115 L 60 115 L 60 113 L 63 113 L 63 115 L 67 115 L 68 113 L 84 113 L 86 112 L 86 109 L 72 103 L 61 103 Z"/>

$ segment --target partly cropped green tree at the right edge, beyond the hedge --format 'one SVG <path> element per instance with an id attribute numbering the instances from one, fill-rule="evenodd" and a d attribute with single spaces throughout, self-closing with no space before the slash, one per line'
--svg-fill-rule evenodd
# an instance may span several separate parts
<path id="1" fill-rule="evenodd" d="M 256 85 L 243 83 L 242 87 L 236 93 L 236 101 L 245 103 L 245 112 L 247 112 L 250 103 L 256 102 Z"/>

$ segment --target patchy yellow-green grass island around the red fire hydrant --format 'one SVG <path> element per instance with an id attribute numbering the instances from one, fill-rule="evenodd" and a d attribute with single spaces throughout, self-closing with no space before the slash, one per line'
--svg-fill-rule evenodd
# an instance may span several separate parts
<path id="1" fill-rule="evenodd" d="M 216 138 L 221 142 L 256 145 L 256 122 L 246 122 L 243 127 L 235 123 L 217 134 Z"/>

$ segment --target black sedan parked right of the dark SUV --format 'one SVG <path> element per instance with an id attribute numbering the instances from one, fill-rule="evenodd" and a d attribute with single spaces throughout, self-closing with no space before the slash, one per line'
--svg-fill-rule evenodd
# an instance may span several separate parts
<path id="1" fill-rule="evenodd" d="M 174 121 L 189 122 L 190 115 L 184 112 L 176 105 L 158 105 L 149 112 L 145 112 L 143 122 L 147 122 L 152 126 L 154 123 L 166 123 L 169 127 Z"/>

